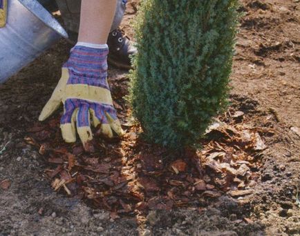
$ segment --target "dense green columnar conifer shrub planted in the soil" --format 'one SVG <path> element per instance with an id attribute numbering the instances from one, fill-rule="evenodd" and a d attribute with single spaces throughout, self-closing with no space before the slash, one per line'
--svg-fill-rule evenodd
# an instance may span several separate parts
<path id="1" fill-rule="evenodd" d="M 238 0 L 143 0 L 130 101 L 144 136 L 195 144 L 227 105 Z"/>

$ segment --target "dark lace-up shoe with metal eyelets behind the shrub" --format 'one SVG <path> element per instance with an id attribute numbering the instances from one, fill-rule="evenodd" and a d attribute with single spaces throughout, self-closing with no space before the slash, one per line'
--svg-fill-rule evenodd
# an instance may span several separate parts
<path id="1" fill-rule="evenodd" d="M 118 68 L 129 70 L 131 68 L 131 56 L 138 50 L 133 43 L 122 35 L 120 30 L 113 30 L 107 40 L 109 45 L 109 56 L 107 61 Z"/>

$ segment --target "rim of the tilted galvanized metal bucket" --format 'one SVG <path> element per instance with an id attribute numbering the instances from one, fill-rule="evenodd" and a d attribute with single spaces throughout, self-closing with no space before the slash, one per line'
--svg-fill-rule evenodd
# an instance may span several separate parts
<path id="1" fill-rule="evenodd" d="M 18 0 L 27 10 L 29 10 L 35 17 L 39 18 L 46 26 L 55 30 L 57 34 L 65 39 L 68 39 L 68 33 L 60 25 L 60 23 L 43 7 L 41 3 L 36 0 Z"/>

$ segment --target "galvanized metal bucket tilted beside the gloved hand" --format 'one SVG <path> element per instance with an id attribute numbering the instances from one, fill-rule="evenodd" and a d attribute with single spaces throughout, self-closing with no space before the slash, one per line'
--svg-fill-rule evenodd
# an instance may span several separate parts
<path id="1" fill-rule="evenodd" d="M 64 28 L 35 0 L 8 0 L 8 17 L 0 28 L 0 83 L 28 65 L 60 37 Z"/>

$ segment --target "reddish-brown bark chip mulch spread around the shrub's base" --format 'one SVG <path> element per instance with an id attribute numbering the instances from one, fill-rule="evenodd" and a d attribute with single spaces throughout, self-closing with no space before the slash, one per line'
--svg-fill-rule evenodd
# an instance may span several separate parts
<path id="1" fill-rule="evenodd" d="M 152 209 L 202 207 L 221 195 L 243 197 L 259 179 L 261 137 L 270 128 L 247 124 L 233 109 L 209 126 L 197 152 L 170 151 L 145 143 L 135 122 L 126 122 L 122 139 L 95 137 L 91 152 L 79 141 L 65 144 L 59 119 L 36 123 L 25 138 L 39 148 L 53 189 L 83 199 L 111 217 L 147 213 Z"/>

